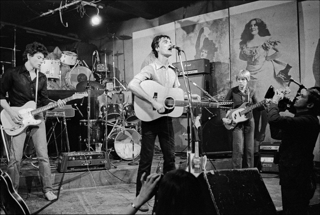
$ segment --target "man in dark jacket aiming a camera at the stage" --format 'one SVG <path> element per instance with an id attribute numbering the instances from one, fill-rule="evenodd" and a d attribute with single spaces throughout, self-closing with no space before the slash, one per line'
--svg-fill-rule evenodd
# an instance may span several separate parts
<path id="1" fill-rule="evenodd" d="M 319 87 L 311 87 L 295 98 L 294 117 L 280 116 L 278 102 L 284 95 L 276 90 L 268 106 L 271 137 L 282 140 L 279 147 L 279 178 L 284 214 L 308 214 L 316 189 L 313 149 L 319 135 Z"/>

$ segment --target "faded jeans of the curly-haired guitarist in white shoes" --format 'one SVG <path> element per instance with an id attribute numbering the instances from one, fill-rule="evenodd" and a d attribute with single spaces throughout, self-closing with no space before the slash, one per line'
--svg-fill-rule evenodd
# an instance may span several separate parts
<path id="1" fill-rule="evenodd" d="M 29 126 L 29 128 L 31 129 L 32 140 L 38 158 L 42 192 L 46 193 L 52 190 L 52 183 L 43 114 L 41 113 L 39 115 L 36 115 L 35 119 L 41 120 L 41 123 L 36 126 Z M 10 149 L 10 161 L 8 163 L 7 173 L 10 176 L 13 187 L 17 192 L 20 178 L 20 162 L 23 155 L 23 145 L 25 139 L 26 130 L 18 136 L 13 136 L 13 141 Z"/>

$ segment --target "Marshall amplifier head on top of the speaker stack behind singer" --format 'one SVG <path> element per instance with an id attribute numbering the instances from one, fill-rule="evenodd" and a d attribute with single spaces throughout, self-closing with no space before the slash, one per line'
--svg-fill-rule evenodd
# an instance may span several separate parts
<path id="1" fill-rule="evenodd" d="M 177 67 L 179 71 L 182 72 L 181 63 L 172 63 L 173 66 Z M 196 59 L 192 61 L 182 62 L 184 74 L 187 74 L 187 66 L 188 66 L 188 74 L 210 74 L 210 61 L 208 59 Z M 182 76 L 178 74 L 178 76 Z"/>

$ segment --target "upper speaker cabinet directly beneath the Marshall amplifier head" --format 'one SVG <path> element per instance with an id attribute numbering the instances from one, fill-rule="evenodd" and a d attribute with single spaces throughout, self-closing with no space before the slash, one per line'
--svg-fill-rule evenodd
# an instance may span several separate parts
<path id="1" fill-rule="evenodd" d="M 183 77 L 179 77 L 179 82 L 180 82 L 180 87 L 181 89 L 183 89 L 183 91 L 186 91 L 186 87 L 184 84 L 184 80 Z M 203 88 L 206 92 L 208 92 L 210 95 L 212 95 L 212 76 L 208 75 L 208 74 L 198 74 L 198 75 L 189 75 L 189 79 L 191 79 L 193 82 L 195 82 L 199 87 Z M 193 94 L 198 94 L 201 97 L 206 96 L 204 94 L 204 92 L 202 92 L 198 87 L 196 87 L 195 85 L 193 85 L 191 82 L 187 81 L 187 87 L 188 87 L 188 83 L 190 83 L 190 88 L 191 88 L 191 92 Z M 188 91 L 189 91 L 189 87 L 188 87 Z"/>

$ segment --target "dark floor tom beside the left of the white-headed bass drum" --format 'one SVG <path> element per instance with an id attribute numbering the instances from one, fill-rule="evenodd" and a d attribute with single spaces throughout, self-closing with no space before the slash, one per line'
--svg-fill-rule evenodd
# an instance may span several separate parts
<path id="1" fill-rule="evenodd" d="M 90 120 L 90 144 L 103 143 L 104 122 L 102 120 Z M 87 144 L 88 120 L 80 120 L 80 142 Z"/>

